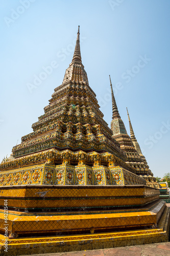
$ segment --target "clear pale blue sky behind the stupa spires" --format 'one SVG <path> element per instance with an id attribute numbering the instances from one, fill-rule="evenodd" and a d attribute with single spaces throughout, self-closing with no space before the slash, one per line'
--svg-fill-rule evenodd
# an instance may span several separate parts
<path id="1" fill-rule="evenodd" d="M 104 119 L 110 126 L 110 74 L 127 132 L 126 107 L 154 176 L 170 172 L 169 0 L 1 0 L 0 7 L 0 161 L 32 132 L 62 83 L 80 25 L 82 62 Z"/>

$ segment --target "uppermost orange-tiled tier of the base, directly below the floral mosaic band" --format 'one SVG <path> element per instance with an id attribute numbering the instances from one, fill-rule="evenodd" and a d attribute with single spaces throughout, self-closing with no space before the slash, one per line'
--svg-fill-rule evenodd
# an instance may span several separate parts
<path id="1" fill-rule="evenodd" d="M 141 207 L 159 199 L 159 190 L 145 185 L 124 186 L 9 186 L 0 190 L 0 205 L 31 211 L 102 207 Z"/>

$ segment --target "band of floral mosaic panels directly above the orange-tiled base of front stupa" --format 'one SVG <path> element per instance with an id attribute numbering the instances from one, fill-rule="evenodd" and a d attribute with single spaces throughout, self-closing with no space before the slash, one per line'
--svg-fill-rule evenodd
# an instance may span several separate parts
<path id="1" fill-rule="evenodd" d="M 68 157 L 71 157 L 68 154 Z M 87 158 L 87 156 L 86 156 Z M 43 171 L 44 170 L 44 171 Z M 124 183 L 125 182 L 125 183 Z M 42 164 L 9 171 L 0 175 L 0 186 L 26 184 L 55 185 L 147 185 L 145 179 L 114 166 L 72 166 Z"/>

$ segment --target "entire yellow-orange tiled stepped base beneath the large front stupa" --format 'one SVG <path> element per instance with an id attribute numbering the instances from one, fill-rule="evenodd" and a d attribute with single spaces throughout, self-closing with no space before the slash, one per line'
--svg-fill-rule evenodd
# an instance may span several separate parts
<path id="1" fill-rule="evenodd" d="M 8 194 L 9 211 L 5 222 L 0 210 L 1 255 L 168 241 L 169 208 L 158 192 L 144 185 L 4 187 L 1 200 Z"/>

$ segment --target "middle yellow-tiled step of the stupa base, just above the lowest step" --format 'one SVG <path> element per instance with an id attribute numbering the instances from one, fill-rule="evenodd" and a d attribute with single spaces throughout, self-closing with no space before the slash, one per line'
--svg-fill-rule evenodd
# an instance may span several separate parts
<path id="1" fill-rule="evenodd" d="M 4 213 L 0 213 L 0 228 L 4 228 Z M 150 211 L 122 212 L 109 214 L 85 215 L 46 215 L 17 216 L 8 214 L 9 231 L 12 233 L 38 233 L 54 231 L 75 231 L 94 229 L 109 229 L 129 226 L 151 226 L 157 223 L 156 214 Z"/>

